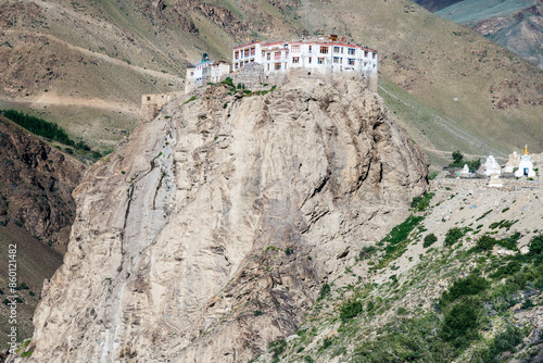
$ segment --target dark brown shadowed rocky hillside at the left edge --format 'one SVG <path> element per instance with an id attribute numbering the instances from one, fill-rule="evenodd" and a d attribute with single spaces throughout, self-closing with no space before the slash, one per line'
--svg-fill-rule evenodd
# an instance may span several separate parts
<path id="1" fill-rule="evenodd" d="M 74 222 L 72 190 L 85 166 L 0 116 L 0 225 L 15 224 L 58 252 Z"/>

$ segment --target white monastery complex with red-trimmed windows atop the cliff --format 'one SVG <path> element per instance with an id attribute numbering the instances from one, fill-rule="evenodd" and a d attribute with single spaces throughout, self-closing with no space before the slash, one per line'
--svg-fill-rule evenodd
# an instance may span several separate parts
<path id="1" fill-rule="evenodd" d="M 366 82 L 377 91 L 377 51 L 338 40 L 338 36 L 293 41 L 253 41 L 232 49 L 231 68 L 225 61 L 212 62 L 204 54 L 202 62 L 187 68 L 186 93 L 230 76 L 239 83 L 285 82 L 286 76 L 323 77 L 349 75 Z"/>

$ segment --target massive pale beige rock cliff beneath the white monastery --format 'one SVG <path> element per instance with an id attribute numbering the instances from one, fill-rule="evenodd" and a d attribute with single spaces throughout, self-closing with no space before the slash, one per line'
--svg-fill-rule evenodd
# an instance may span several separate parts
<path id="1" fill-rule="evenodd" d="M 91 168 L 35 362 L 247 362 L 405 217 L 427 162 L 380 98 L 295 87 L 206 88 Z"/>

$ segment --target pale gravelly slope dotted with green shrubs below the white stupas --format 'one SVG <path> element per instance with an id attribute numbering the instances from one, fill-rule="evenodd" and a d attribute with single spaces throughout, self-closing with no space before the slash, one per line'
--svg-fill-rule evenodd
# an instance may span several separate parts
<path id="1" fill-rule="evenodd" d="M 432 182 L 255 362 L 540 362 L 541 182 L 503 183 Z"/>

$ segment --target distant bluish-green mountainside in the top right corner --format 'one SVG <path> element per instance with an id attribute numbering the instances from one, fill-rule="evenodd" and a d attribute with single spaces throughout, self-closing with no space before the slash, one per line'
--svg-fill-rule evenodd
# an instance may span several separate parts
<path id="1" fill-rule="evenodd" d="M 469 26 L 495 43 L 543 68 L 541 0 L 415 1 L 453 22 Z"/>

